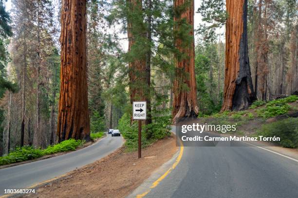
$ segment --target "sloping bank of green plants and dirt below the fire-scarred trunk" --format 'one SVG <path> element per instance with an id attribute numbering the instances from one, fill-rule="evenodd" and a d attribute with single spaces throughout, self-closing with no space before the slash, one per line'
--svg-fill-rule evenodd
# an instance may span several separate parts
<path id="1" fill-rule="evenodd" d="M 248 110 L 224 111 L 210 116 L 201 115 L 202 123 L 231 125 L 237 124 L 237 135 L 249 135 L 259 137 L 279 137 L 278 144 L 287 148 L 298 148 L 298 118 L 277 118 L 269 121 L 268 118 L 278 115 L 287 115 L 289 111 L 298 111 L 297 104 L 290 102 L 298 100 L 298 96 L 289 96 L 272 101 L 253 102 Z M 284 116 L 286 117 L 286 116 Z M 283 118 L 283 119 L 282 119 Z M 267 122 L 267 123 L 266 123 Z M 276 142 L 275 142 L 276 143 Z"/>

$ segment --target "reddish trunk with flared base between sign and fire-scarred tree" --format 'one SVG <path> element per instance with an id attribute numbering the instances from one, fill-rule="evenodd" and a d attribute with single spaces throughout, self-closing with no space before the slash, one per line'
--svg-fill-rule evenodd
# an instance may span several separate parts
<path id="1" fill-rule="evenodd" d="M 175 0 L 174 8 L 179 10 L 188 0 Z M 190 1 L 189 7 L 181 13 L 181 15 L 174 16 L 176 31 L 182 28 L 179 24 L 182 19 L 186 19 L 191 26 L 189 35 L 192 37 L 191 42 L 186 46 L 183 38 L 175 38 L 176 48 L 184 54 L 178 57 L 176 55 L 176 74 L 173 86 L 173 110 L 172 117 L 175 123 L 176 118 L 179 117 L 197 117 L 199 108 L 197 105 L 197 87 L 194 72 L 194 0 Z M 185 87 L 187 86 L 187 90 Z"/>

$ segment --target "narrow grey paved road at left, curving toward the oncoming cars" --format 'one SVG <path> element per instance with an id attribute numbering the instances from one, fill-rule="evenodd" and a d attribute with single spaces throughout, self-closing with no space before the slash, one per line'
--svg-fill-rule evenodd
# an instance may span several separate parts
<path id="1" fill-rule="evenodd" d="M 32 186 L 63 175 L 76 167 L 93 163 L 121 147 L 122 144 L 122 136 L 111 137 L 109 134 L 92 146 L 65 155 L 0 169 L 0 195 L 4 194 L 4 189 Z"/>

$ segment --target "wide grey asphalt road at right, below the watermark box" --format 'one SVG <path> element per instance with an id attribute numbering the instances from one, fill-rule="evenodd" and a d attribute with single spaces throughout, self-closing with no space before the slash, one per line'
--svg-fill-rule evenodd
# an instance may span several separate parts
<path id="1" fill-rule="evenodd" d="M 298 198 L 298 162 L 245 145 L 185 147 L 145 198 Z"/>

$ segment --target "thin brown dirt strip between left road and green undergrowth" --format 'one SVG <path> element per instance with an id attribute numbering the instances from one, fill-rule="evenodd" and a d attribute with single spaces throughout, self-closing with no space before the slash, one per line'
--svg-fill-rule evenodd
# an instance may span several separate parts
<path id="1" fill-rule="evenodd" d="M 89 142 L 86 142 L 82 147 L 78 147 L 75 150 L 79 150 L 79 149 L 82 149 L 82 148 L 89 147 L 89 146 L 95 144 L 96 142 L 100 141 L 102 138 L 104 138 L 106 136 L 107 136 L 107 134 L 105 133 L 102 137 L 97 138 L 97 139 L 94 139 L 94 140 L 91 140 Z M 58 152 L 58 153 L 54 153 L 54 154 L 50 154 L 50 155 L 44 155 L 42 157 L 39 157 L 39 158 L 36 158 L 36 159 L 33 159 L 33 160 L 27 160 L 27 161 L 13 163 L 13 164 L 0 165 L 0 169 L 2 169 L 2 168 L 8 168 L 8 167 L 15 166 L 15 165 L 23 165 L 23 164 L 27 164 L 27 163 L 31 163 L 31 162 L 36 162 L 36 161 L 39 161 L 39 160 L 44 160 L 44 159 L 48 159 L 48 158 L 51 158 L 51 157 L 56 157 L 56 156 L 59 156 L 59 155 L 64 155 L 64 154 L 73 152 L 75 150 L 70 150 L 70 151 L 66 151 L 66 152 Z"/>

